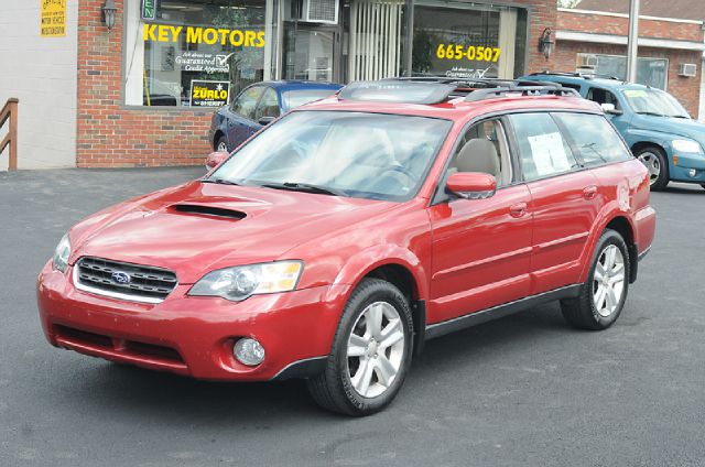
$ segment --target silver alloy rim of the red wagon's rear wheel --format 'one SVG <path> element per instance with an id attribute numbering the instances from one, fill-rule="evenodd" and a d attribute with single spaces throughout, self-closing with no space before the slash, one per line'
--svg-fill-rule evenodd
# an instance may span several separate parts
<path id="1" fill-rule="evenodd" d="M 597 313 L 610 316 L 625 293 L 625 257 L 615 245 L 608 245 L 599 256 L 593 275 L 593 302 Z"/>

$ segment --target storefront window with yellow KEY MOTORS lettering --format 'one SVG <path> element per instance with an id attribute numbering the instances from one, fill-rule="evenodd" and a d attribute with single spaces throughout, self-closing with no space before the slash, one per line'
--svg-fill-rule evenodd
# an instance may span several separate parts
<path id="1" fill-rule="evenodd" d="M 265 79 L 267 0 L 128 0 L 126 104 L 220 107 Z"/>

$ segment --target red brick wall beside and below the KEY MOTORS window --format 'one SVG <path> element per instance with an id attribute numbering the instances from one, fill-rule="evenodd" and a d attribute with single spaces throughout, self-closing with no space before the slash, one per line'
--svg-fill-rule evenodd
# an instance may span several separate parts
<path id="1" fill-rule="evenodd" d="M 122 108 L 122 0 L 110 33 L 105 0 L 79 0 L 76 165 L 203 164 L 212 111 Z"/>

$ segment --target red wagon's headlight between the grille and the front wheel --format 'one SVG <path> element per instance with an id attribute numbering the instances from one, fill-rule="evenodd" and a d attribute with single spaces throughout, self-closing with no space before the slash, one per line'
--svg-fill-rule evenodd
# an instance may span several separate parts
<path id="1" fill-rule="evenodd" d="M 303 270 L 301 261 L 276 261 L 220 269 L 204 275 L 188 295 L 221 296 L 241 302 L 251 295 L 290 292 L 296 289 Z"/>

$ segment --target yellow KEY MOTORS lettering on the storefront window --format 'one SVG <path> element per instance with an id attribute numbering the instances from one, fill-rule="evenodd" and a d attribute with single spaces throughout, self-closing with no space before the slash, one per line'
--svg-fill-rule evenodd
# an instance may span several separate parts
<path id="1" fill-rule="evenodd" d="M 188 44 L 230 44 L 234 47 L 263 47 L 264 31 L 242 31 L 215 28 L 172 26 L 169 24 L 144 24 L 144 41 L 180 42 L 186 36 Z"/>

